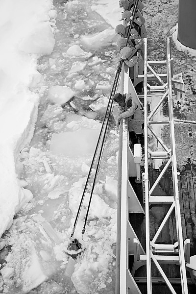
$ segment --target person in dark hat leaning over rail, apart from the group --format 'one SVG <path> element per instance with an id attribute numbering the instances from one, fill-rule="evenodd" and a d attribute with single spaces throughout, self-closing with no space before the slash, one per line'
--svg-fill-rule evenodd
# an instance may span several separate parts
<path id="1" fill-rule="evenodd" d="M 138 105 L 129 97 L 126 100 L 126 95 L 117 92 L 113 100 L 119 104 L 118 121 L 128 118 L 129 141 L 132 144 L 140 144 L 144 146 L 144 114 Z M 139 140 L 139 141 L 138 141 Z"/>

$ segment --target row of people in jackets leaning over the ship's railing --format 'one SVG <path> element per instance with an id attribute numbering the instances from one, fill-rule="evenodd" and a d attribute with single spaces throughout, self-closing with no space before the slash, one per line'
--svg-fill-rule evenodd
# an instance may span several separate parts
<path id="1" fill-rule="evenodd" d="M 121 59 L 129 67 L 129 76 L 134 82 L 134 65 L 138 63 L 138 73 L 144 73 L 144 59 L 143 59 L 143 38 L 147 37 L 145 29 L 145 18 L 143 17 L 142 10 L 144 4 L 142 0 L 138 1 L 133 27 L 130 31 L 129 39 L 127 42 L 130 23 L 133 19 L 133 6 L 134 0 L 120 0 L 119 5 L 124 9 L 122 13 L 122 20 L 124 25 L 117 25 L 115 32 L 121 36 L 117 41 L 117 46 L 120 49 L 118 67 L 120 66 Z M 127 45 L 126 45 L 127 43 Z M 143 82 L 135 86 L 136 92 L 142 92 Z M 128 131 L 130 144 L 140 143 L 144 147 L 144 114 L 143 111 L 136 105 L 132 98 L 126 100 L 126 95 L 116 93 L 113 97 L 114 101 L 119 104 L 118 108 L 118 121 L 122 118 L 128 118 Z"/>

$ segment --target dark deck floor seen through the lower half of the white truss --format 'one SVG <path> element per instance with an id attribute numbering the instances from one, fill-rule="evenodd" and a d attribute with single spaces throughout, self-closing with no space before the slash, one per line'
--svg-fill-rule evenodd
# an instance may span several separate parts
<path id="1" fill-rule="evenodd" d="M 192 172 L 193 171 L 193 172 Z M 192 170 L 187 165 L 186 169 L 180 173 L 180 210 L 181 210 L 181 222 L 182 222 L 182 231 L 183 231 L 183 239 L 190 239 L 191 242 L 191 255 L 196 254 L 196 169 Z M 149 180 L 150 187 L 155 182 L 157 176 L 160 174 L 160 171 L 154 170 L 150 168 L 149 171 Z M 172 187 L 172 172 L 167 171 L 158 186 L 155 188 L 153 195 L 156 196 L 172 196 L 173 195 L 173 187 Z M 141 204 L 144 208 L 143 203 L 143 192 L 142 185 L 135 184 L 134 178 L 129 178 L 133 189 L 136 192 Z M 160 204 L 150 205 L 149 214 L 150 214 L 150 240 L 152 240 L 154 234 L 156 233 L 160 223 L 165 217 L 166 213 L 170 208 L 170 204 Z M 143 214 L 129 214 L 129 221 L 133 226 L 134 231 L 136 232 L 138 239 L 140 240 L 144 249 L 146 249 L 146 229 L 145 229 L 145 216 Z M 177 241 L 176 235 L 176 224 L 175 224 L 175 213 L 172 212 L 172 215 L 169 218 L 169 221 L 164 226 L 160 236 L 157 239 L 156 243 L 164 243 L 164 244 L 173 244 Z M 161 277 L 157 268 L 151 263 L 151 271 L 152 277 Z M 180 271 L 179 266 L 177 265 L 162 265 L 162 268 L 166 275 L 171 278 L 179 278 Z M 146 276 L 146 268 L 145 266 L 139 268 L 135 276 L 137 277 L 145 277 Z M 187 277 L 190 278 L 189 272 L 187 272 Z M 146 285 L 139 284 L 139 288 L 142 293 L 146 294 Z M 195 285 L 189 285 L 190 294 L 196 293 Z M 181 286 L 175 285 L 174 289 L 176 293 L 181 293 Z M 170 290 L 166 285 L 157 285 L 153 284 L 153 293 L 156 294 L 169 294 Z"/>

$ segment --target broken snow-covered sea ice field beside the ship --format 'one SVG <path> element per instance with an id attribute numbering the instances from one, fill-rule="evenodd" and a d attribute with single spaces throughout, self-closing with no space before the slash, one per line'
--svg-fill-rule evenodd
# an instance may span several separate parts
<path id="1" fill-rule="evenodd" d="M 56 3 L 54 7 L 50 0 L 0 3 L 1 11 L 5 12 L 0 20 L 3 38 L 0 292 L 3 294 L 28 293 L 37 286 L 36 292 L 41 294 L 114 293 L 116 132 L 108 134 L 82 241 L 82 217 L 93 178 L 88 186 L 74 234 L 85 251 L 75 263 L 71 277 L 65 274 L 69 256 L 64 251 L 70 242 L 105 112 L 106 102 L 101 105 L 99 99 L 108 100 L 116 70 L 116 46 L 112 42 L 108 44 L 103 38 L 105 43 L 87 48 L 81 36 L 85 33 L 90 36 L 92 31 L 94 37 L 100 36 L 105 30 L 114 36 L 114 30 L 96 14 L 96 6 L 92 11 L 89 3 L 77 0 L 59 5 Z M 111 5 L 114 3 L 108 7 Z M 119 14 L 118 1 L 116 7 Z M 103 36 L 106 37 L 105 32 Z M 75 88 L 78 81 L 80 86 Z M 91 105 L 93 109 L 89 107 L 92 100 L 97 100 Z M 114 122 L 111 128 L 115 128 Z M 90 155 L 86 148 L 80 149 L 80 154 L 71 146 L 71 141 L 74 147 L 81 140 L 81 130 L 91 136 Z M 61 134 L 73 135 L 74 140 L 67 146 L 65 143 L 64 154 L 56 154 L 50 151 L 52 136 Z"/>

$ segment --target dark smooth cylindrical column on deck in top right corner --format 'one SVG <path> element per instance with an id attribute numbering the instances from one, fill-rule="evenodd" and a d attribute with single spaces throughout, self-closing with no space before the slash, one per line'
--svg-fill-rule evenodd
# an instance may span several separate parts
<path id="1" fill-rule="evenodd" d="M 196 49 L 196 0 L 179 0 L 178 41 Z"/>

